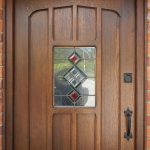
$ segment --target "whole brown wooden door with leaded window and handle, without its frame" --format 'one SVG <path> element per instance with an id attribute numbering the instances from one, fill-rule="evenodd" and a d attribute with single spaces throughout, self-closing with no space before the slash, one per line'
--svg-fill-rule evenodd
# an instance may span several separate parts
<path id="1" fill-rule="evenodd" d="M 15 1 L 14 150 L 135 149 L 135 4 Z"/>

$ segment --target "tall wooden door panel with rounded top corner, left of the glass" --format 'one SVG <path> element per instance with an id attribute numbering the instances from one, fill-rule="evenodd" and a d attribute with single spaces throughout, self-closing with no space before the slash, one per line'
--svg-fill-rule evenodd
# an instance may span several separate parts
<path id="1" fill-rule="evenodd" d="M 30 150 L 46 150 L 48 12 L 34 13 L 29 22 Z"/>

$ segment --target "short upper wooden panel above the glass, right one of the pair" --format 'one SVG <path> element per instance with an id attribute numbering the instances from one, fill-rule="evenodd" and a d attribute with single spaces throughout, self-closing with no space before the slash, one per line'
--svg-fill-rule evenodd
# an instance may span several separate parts
<path id="1" fill-rule="evenodd" d="M 77 40 L 94 41 L 97 36 L 96 8 L 77 8 Z"/>

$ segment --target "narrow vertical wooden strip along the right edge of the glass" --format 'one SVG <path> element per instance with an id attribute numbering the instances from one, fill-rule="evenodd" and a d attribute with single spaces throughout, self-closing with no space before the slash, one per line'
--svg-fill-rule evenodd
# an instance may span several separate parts
<path id="1" fill-rule="evenodd" d="M 96 150 L 101 149 L 102 127 L 102 16 L 101 7 L 97 8 L 97 39 L 96 39 Z"/>

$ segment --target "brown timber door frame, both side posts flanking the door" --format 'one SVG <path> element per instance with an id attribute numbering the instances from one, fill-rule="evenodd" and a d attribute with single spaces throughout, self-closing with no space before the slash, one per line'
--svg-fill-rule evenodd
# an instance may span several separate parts
<path id="1" fill-rule="evenodd" d="M 13 150 L 14 1 L 5 2 L 5 137 L 4 149 Z M 145 139 L 145 48 L 146 0 L 136 0 L 136 150 L 144 150 Z"/>

